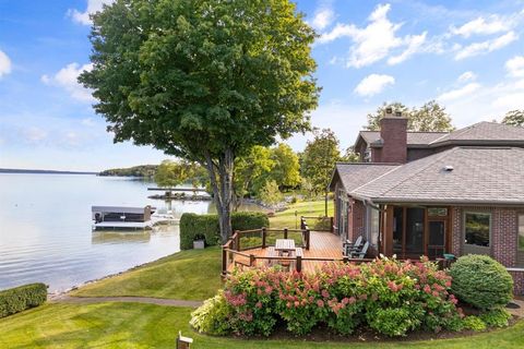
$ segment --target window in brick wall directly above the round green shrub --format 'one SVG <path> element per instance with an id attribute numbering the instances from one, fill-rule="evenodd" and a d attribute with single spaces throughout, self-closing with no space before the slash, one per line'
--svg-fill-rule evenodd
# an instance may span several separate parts
<path id="1" fill-rule="evenodd" d="M 465 213 L 464 252 L 489 254 L 491 215 L 488 213 Z"/>

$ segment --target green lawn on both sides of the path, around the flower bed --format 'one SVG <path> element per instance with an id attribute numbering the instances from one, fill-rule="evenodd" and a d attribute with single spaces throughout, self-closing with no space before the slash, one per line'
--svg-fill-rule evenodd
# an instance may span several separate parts
<path id="1" fill-rule="evenodd" d="M 83 287 L 75 296 L 146 296 L 203 300 L 221 287 L 219 248 L 184 251 Z M 419 342 L 240 340 L 209 337 L 189 327 L 189 308 L 141 303 L 46 304 L 0 318 L 0 348 L 175 348 L 179 330 L 193 348 L 524 348 L 524 321 L 461 339 Z"/>

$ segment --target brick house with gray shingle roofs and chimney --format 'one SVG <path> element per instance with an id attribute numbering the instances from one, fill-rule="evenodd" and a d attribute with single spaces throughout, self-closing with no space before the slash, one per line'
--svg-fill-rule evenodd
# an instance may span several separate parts
<path id="1" fill-rule="evenodd" d="M 336 164 L 335 231 L 371 254 L 418 258 L 489 254 L 524 292 L 524 128 L 480 122 L 408 132 L 391 110 L 359 133 L 361 163 Z"/>

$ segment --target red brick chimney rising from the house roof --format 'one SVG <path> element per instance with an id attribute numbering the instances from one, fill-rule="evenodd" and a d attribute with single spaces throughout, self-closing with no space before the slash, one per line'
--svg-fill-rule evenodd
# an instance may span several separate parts
<path id="1" fill-rule="evenodd" d="M 385 108 L 384 117 L 380 120 L 380 137 L 381 163 L 407 161 L 407 118 L 404 118 L 401 111 L 393 113 L 392 108 Z"/>

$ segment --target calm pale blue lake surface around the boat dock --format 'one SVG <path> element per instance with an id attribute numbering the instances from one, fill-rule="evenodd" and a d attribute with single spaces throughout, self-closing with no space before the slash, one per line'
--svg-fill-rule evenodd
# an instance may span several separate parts
<path id="1" fill-rule="evenodd" d="M 92 231 L 91 206 L 145 206 L 152 183 L 85 174 L 0 173 L 0 289 L 46 282 L 49 291 L 126 270 L 180 250 L 178 225 L 139 232 Z M 172 202 L 182 213 L 210 202 Z"/>

